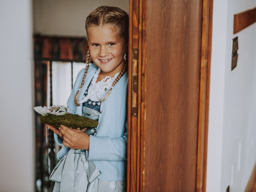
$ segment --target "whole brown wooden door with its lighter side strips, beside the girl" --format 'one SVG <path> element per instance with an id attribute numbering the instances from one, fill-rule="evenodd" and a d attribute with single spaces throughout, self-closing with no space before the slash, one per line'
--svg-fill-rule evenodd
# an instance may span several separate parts
<path id="1" fill-rule="evenodd" d="M 128 192 L 205 191 L 212 0 L 130 0 Z"/>

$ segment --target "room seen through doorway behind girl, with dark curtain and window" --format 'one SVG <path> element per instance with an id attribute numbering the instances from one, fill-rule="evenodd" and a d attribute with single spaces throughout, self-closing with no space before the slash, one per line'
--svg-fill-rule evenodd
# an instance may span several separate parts
<path id="1" fill-rule="evenodd" d="M 86 16 L 96 7 L 116 6 L 129 14 L 128 0 L 33 0 L 35 106 L 66 105 L 76 75 L 85 67 Z M 36 191 L 52 191 L 50 173 L 57 164 L 53 132 L 35 112 Z"/>

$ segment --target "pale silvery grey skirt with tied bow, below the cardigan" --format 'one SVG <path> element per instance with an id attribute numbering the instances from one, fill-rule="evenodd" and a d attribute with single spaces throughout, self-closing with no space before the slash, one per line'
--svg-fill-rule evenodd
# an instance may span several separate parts
<path id="1" fill-rule="evenodd" d="M 70 149 L 58 162 L 50 175 L 54 181 L 53 192 L 125 192 L 125 181 L 106 181 L 92 161 L 86 159 L 84 150 Z"/>

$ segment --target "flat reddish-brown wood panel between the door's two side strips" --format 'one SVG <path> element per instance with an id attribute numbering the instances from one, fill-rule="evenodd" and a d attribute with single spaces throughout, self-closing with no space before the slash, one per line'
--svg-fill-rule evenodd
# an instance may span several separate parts
<path id="1" fill-rule="evenodd" d="M 144 191 L 196 191 L 202 1 L 148 0 Z"/>

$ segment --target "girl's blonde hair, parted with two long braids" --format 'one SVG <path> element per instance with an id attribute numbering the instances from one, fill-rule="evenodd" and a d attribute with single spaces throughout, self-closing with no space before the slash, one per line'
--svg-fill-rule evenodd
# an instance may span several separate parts
<path id="1" fill-rule="evenodd" d="M 124 38 L 126 48 L 128 47 L 128 32 L 129 32 L 129 16 L 128 14 L 122 10 L 121 8 L 118 7 L 112 7 L 112 6 L 99 6 L 95 8 L 86 18 L 85 22 L 85 29 L 86 33 L 88 34 L 88 28 L 90 26 L 104 26 L 106 24 L 112 24 L 114 27 L 117 27 L 119 29 L 119 34 L 120 37 Z M 86 38 L 88 42 L 88 37 Z M 87 53 L 86 53 L 86 67 L 85 67 L 85 72 L 84 76 L 81 82 L 81 85 L 76 92 L 76 96 L 74 98 L 74 102 L 77 106 L 80 106 L 80 103 L 77 101 L 78 100 L 78 94 L 84 85 L 84 80 L 89 68 L 90 64 L 90 50 L 88 48 Z M 127 70 L 127 58 L 128 58 L 128 51 L 126 50 L 126 59 L 125 59 L 125 64 L 121 70 L 121 72 L 118 74 L 114 82 L 112 83 L 112 86 L 110 90 L 108 90 L 105 98 L 103 100 L 100 100 L 100 102 L 103 102 L 106 100 L 106 98 L 110 95 L 112 88 L 114 85 L 120 80 L 120 78 L 124 75 L 124 73 Z"/>

